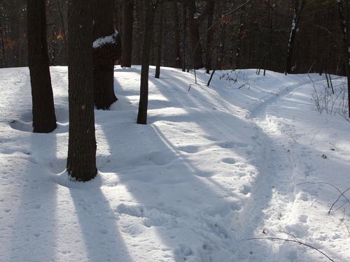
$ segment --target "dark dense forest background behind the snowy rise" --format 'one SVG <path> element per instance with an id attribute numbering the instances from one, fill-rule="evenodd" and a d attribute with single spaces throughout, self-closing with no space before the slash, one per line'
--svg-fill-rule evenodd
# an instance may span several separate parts
<path id="1" fill-rule="evenodd" d="M 264 68 L 285 72 L 290 27 L 298 6 L 302 12 L 298 17 L 290 72 L 346 75 L 337 1 L 246 2 L 165 1 L 155 13 L 151 64 L 156 64 L 161 43 L 162 66 L 183 70 Z M 227 15 L 244 3 L 242 8 Z M 46 5 L 50 65 L 66 66 L 68 0 L 47 0 Z M 143 1 L 116 0 L 113 13 L 123 50 L 132 47 L 131 64 L 141 64 Z M 124 31 L 131 31 L 132 36 L 125 37 Z M 0 1 L 0 67 L 27 66 L 27 52 L 25 1 Z M 124 54 L 122 58 L 125 59 Z M 116 64 L 123 64 L 121 60 Z"/>

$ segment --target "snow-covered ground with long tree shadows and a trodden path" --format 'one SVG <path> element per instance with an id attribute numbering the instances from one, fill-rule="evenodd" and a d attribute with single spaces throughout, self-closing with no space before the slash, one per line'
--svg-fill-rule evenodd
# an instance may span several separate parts
<path id="1" fill-rule="evenodd" d="M 95 110 L 99 174 L 75 183 L 64 173 L 67 68 L 51 68 L 49 134 L 31 133 L 27 68 L 1 69 L 1 262 L 329 261 L 251 238 L 350 261 L 350 204 L 339 198 L 328 214 L 339 192 L 311 184 L 350 187 L 350 123 L 313 100 L 324 76 L 216 71 L 207 87 L 204 71 L 197 85 L 154 71 L 138 125 L 141 68 L 115 68 L 118 101 Z"/>

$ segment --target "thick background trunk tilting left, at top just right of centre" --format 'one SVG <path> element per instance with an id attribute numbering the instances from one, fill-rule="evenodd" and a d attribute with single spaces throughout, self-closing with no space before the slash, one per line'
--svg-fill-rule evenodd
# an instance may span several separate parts
<path id="1" fill-rule="evenodd" d="M 188 3 L 188 22 L 190 26 L 190 42 L 192 49 L 193 66 L 195 69 L 202 68 L 204 66 L 202 59 L 202 46 L 200 44 L 200 29 L 195 19 L 196 5 L 195 1 Z"/>

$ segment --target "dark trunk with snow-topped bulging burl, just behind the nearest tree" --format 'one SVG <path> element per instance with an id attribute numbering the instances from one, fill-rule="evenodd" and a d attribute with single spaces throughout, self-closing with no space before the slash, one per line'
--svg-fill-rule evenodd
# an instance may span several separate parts
<path id="1" fill-rule="evenodd" d="M 100 45 L 93 49 L 94 105 L 97 109 L 109 110 L 117 101 L 114 94 L 114 62 L 120 57 L 120 36 L 113 24 L 113 0 L 93 1 L 94 40 L 112 36 L 113 43 Z"/>

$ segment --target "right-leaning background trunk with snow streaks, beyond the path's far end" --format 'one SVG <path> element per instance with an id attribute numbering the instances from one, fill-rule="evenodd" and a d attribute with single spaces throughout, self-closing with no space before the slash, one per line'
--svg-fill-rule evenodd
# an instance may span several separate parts
<path id="1" fill-rule="evenodd" d="M 297 26 L 300 21 L 300 15 L 302 9 L 304 8 L 305 1 L 302 0 L 301 5 L 299 6 L 299 0 L 294 0 L 294 15 L 292 20 L 292 28 L 290 29 L 290 37 L 288 41 L 288 50 L 287 50 L 287 59 L 286 59 L 286 74 L 291 72 L 292 67 L 292 56 L 294 50 L 295 36 L 297 34 Z"/>

